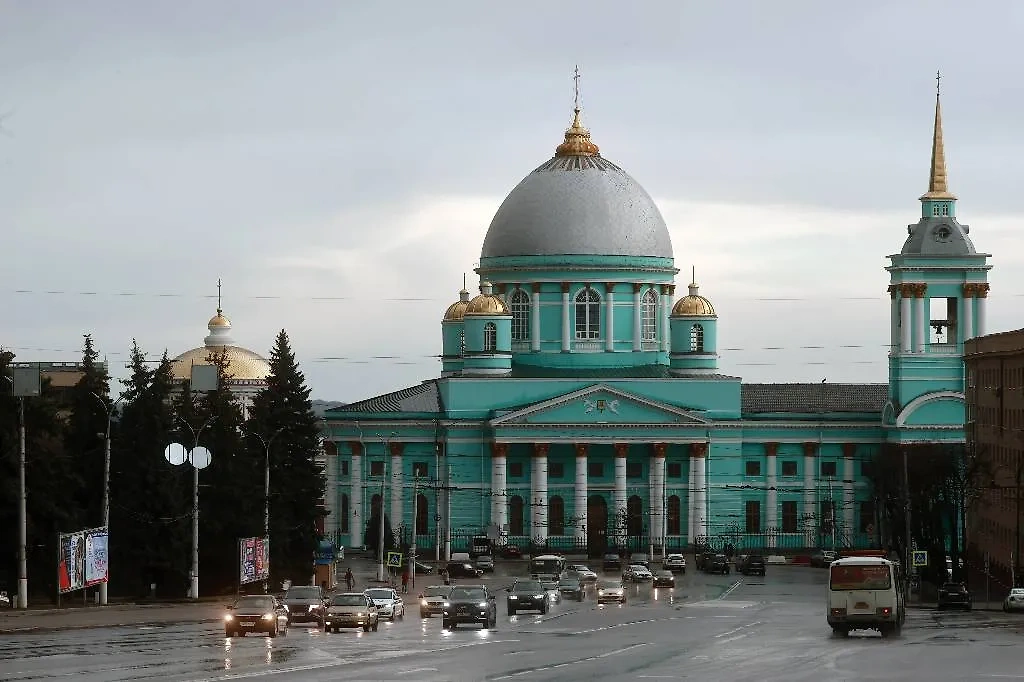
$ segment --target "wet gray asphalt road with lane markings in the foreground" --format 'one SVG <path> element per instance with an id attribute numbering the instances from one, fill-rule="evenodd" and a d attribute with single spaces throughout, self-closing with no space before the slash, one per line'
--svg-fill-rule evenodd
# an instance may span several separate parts
<path id="1" fill-rule="evenodd" d="M 494 631 L 442 632 L 411 595 L 407 617 L 376 633 L 298 626 L 227 640 L 219 622 L 26 633 L 0 641 L 0 679 L 1024 680 L 1024 617 L 912 609 L 902 637 L 838 639 L 824 623 L 824 584 L 808 568 L 691 572 L 675 590 L 630 587 L 625 606 L 591 595 L 513 617 L 500 592 Z"/>

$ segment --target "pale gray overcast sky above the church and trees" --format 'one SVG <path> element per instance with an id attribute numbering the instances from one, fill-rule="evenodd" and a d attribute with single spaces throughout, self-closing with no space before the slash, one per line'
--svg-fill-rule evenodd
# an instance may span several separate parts
<path id="1" fill-rule="evenodd" d="M 435 377 L 579 63 L 594 141 L 719 310 L 722 370 L 885 381 L 936 70 L 989 331 L 1024 326 L 1022 30 L 1012 0 L 0 0 L 0 345 L 72 360 L 92 333 L 120 376 L 133 338 L 201 345 L 219 276 L 239 344 L 288 330 L 314 397 Z"/>

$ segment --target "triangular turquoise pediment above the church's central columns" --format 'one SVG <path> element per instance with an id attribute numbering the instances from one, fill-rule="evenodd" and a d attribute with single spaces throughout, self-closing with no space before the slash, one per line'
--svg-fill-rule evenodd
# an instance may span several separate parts
<path id="1" fill-rule="evenodd" d="M 598 384 L 490 420 L 492 426 L 529 424 L 707 424 L 698 414 Z"/>

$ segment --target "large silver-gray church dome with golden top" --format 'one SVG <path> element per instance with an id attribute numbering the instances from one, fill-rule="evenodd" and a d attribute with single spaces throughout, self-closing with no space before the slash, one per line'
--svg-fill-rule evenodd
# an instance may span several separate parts
<path id="1" fill-rule="evenodd" d="M 481 258 L 650 256 L 672 258 L 660 211 L 640 184 L 598 155 L 579 113 L 556 156 L 505 198 Z"/>

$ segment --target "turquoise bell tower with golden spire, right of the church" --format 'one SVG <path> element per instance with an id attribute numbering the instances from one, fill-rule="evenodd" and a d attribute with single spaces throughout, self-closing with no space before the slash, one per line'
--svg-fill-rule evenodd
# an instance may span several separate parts
<path id="1" fill-rule="evenodd" d="M 928 191 L 921 219 L 889 256 L 890 426 L 963 426 L 964 341 L 985 334 L 990 254 L 979 253 L 957 220 L 948 188 L 942 106 L 936 75 Z"/>

